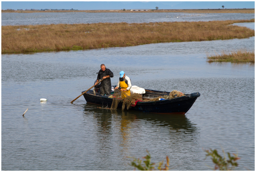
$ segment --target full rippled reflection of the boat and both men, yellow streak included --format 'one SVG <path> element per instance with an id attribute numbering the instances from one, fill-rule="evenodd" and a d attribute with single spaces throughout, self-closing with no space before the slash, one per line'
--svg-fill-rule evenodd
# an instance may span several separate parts
<path id="1" fill-rule="evenodd" d="M 141 149 L 150 147 L 153 142 L 156 145 L 159 143 L 157 149 L 177 151 L 184 149 L 181 145 L 194 145 L 198 140 L 196 124 L 180 114 L 104 109 L 87 104 L 83 120 L 86 128 L 93 131 L 89 133 L 91 138 L 97 140 L 97 151 L 107 150 L 106 156 L 111 154 L 113 147 L 122 157 L 127 157 L 131 155 L 131 150 L 138 148 L 136 145 L 140 145 Z"/>

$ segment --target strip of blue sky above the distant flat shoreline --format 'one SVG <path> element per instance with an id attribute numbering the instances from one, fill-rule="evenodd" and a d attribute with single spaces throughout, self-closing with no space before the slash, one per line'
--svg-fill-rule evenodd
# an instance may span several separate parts
<path id="1" fill-rule="evenodd" d="M 1 9 L 78 9 L 78 10 L 111 10 L 111 9 L 221 9 L 255 8 L 254 1 L 2 1 Z"/>

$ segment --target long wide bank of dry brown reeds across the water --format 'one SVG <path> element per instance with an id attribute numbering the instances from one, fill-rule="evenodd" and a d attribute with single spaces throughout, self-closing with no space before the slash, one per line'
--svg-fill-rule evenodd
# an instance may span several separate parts
<path id="1" fill-rule="evenodd" d="M 237 22 L 254 22 L 254 19 L 2 26 L 2 53 L 82 50 L 254 36 L 254 30 L 230 25 Z"/>

